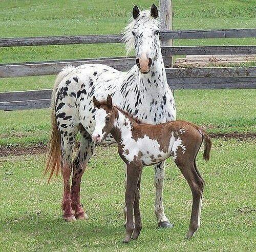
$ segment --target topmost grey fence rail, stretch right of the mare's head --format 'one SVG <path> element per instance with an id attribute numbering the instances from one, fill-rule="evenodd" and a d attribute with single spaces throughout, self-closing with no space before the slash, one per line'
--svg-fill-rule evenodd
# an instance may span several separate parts
<path id="1" fill-rule="evenodd" d="M 256 29 L 216 29 L 216 30 L 176 30 L 162 31 L 161 40 L 195 39 L 195 38 L 231 38 L 256 37 Z"/>

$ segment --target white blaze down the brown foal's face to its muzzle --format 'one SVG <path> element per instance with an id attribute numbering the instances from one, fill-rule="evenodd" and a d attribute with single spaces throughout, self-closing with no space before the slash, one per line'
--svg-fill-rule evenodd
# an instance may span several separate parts
<path id="1" fill-rule="evenodd" d="M 94 142 L 100 143 L 102 139 L 104 138 L 105 132 L 102 132 L 103 128 L 106 125 L 106 117 L 109 114 L 103 109 L 100 108 L 95 113 L 95 129 L 92 134 L 92 139 Z M 97 135 L 99 135 L 99 138 L 97 138 Z"/>

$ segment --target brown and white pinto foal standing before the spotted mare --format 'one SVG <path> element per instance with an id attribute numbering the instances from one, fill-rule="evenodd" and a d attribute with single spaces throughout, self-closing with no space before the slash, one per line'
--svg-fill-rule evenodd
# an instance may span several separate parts
<path id="1" fill-rule="evenodd" d="M 111 133 L 118 144 L 119 156 L 127 165 L 127 223 L 123 241 L 129 242 L 131 238 L 138 238 L 142 228 L 139 210 L 142 167 L 159 163 L 170 156 L 174 158 L 174 162 L 187 180 L 193 195 L 190 224 L 186 235 L 187 238 L 192 237 L 200 225 L 204 188 L 204 180 L 196 167 L 196 157 L 204 140 L 203 158 L 209 160 L 211 141 L 208 135 L 195 124 L 180 120 L 158 125 L 140 123 L 113 106 L 110 95 L 103 102 L 99 102 L 94 96 L 93 103 L 98 108 L 92 135 L 94 142 L 100 143 Z"/>

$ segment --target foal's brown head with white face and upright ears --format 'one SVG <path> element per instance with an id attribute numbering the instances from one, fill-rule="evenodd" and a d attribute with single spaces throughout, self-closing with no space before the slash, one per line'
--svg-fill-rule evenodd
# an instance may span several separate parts
<path id="1" fill-rule="evenodd" d="M 102 102 L 99 102 L 95 96 L 93 96 L 93 103 L 98 110 L 95 113 L 95 129 L 92 134 L 92 139 L 95 143 L 100 143 L 114 127 L 115 111 L 110 95 L 108 95 L 106 101 Z"/>

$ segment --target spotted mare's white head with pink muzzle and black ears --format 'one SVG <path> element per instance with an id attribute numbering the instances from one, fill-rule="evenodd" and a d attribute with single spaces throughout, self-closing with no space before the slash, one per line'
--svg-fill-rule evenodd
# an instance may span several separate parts
<path id="1" fill-rule="evenodd" d="M 133 21 L 126 27 L 123 41 L 127 53 L 133 48 L 136 52 L 136 65 L 141 73 L 148 73 L 159 57 L 159 22 L 158 10 L 153 4 L 151 11 L 140 11 L 137 5 L 133 8 Z"/>

